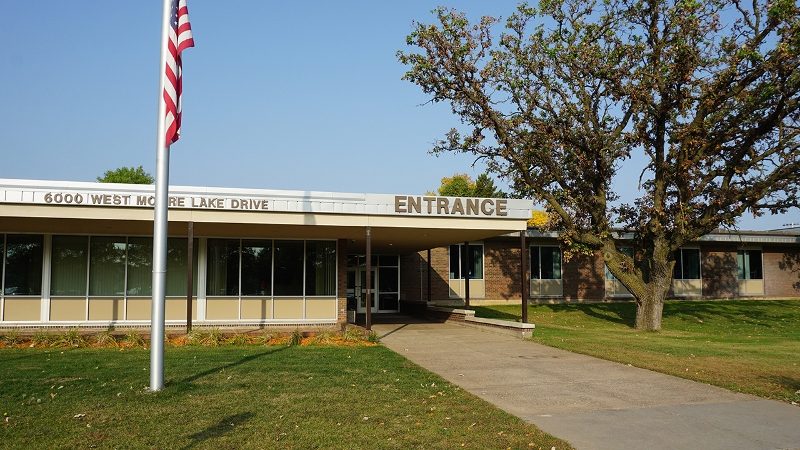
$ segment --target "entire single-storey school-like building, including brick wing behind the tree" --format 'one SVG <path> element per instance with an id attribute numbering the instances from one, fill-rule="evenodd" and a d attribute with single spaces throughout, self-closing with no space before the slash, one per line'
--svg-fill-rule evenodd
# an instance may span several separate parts
<path id="1" fill-rule="evenodd" d="M 153 195 L 0 180 L 0 327 L 149 325 Z M 528 229 L 526 200 L 173 186 L 169 202 L 167 326 L 186 323 L 190 279 L 192 320 L 213 326 L 335 325 L 368 303 L 520 304 L 523 290 L 631 299 L 602 256 L 565 260 L 555 233 Z M 800 298 L 797 229 L 719 231 L 676 259 L 673 298 Z"/>

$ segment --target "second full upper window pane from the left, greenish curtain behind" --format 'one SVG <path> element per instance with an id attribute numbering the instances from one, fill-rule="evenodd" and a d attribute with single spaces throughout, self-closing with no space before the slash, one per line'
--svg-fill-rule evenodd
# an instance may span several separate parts
<path id="1" fill-rule="evenodd" d="M 51 295 L 86 295 L 87 236 L 53 236 Z"/>

